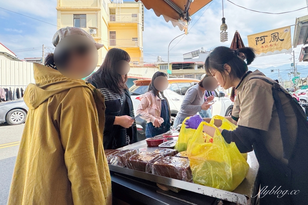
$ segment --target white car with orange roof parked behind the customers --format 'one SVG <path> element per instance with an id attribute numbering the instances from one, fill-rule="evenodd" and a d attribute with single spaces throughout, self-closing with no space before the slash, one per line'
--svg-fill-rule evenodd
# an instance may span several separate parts
<path id="1" fill-rule="evenodd" d="M 150 84 L 151 80 L 136 80 L 134 81 L 134 85 L 129 88 L 134 111 L 136 115 L 136 110 L 138 108 L 138 105 L 140 104 L 140 95 L 144 94 L 148 91 L 148 85 Z M 184 95 L 186 91 L 191 87 L 196 85 L 199 80 L 197 79 L 190 79 L 190 78 L 171 78 L 168 79 L 169 86 L 166 90 L 164 90 L 164 96 L 168 99 L 169 106 L 170 106 L 170 112 L 171 112 L 171 118 L 172 122 L 174 118 L 176 117 L 176 114 L 180 110 Z M 229 98 L 225 97 L 224 93 L 219 93 L 217 90 L 215 90 L 215 98 L 214 101 L 216 101 L 212 106 L 212 115 L 221 115 L 221 116 L 229 116 L 232 113 L 232 101 Z M 138 131 L 138 138 L 145 139 L 145 125 L 146 121 L 137 118 L 136 119 L 136 125 L 137 125 L 137 131 Z"/>

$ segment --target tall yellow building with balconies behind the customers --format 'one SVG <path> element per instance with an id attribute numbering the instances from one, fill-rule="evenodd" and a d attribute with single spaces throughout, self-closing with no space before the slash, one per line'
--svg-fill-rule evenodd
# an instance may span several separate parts
<path id="1" fill-rule="evenodd" d="M 123 0 L 57 0 L 57 26 L 80 27 L 104 44 L 98 66 L 111 48 L 128 52 L 131 64 L 143 65 L 143 4 Z M 140 63 L 141 62 L 141 63 Z"/>

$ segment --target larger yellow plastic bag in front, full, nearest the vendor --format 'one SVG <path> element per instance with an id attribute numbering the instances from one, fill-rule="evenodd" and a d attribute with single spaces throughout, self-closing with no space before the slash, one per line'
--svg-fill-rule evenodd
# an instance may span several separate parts
<path id="1" fill-rule="evenodd" d="M 223 117 L 213 117 L 213 119 L 218 118 Z M 235 129 L 235 125 L 228 120 L 225 118 L 222 120 L 222 129 Z M 204 141 L 203 125 L 216 129 L 213 143 Z M 206 122 L 199 125 L 193 138 L 190 139 L 187 155 L 194 183 L 208 187 L 233 191 L 245 179 L 249 170 L 248 163 L 238 151 L 235 143 L 226 143 L 218 128 Z"/>

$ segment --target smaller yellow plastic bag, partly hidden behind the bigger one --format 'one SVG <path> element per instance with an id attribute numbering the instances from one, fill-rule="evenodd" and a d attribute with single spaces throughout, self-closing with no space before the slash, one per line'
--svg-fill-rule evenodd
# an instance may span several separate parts
<path id="1" fill-rule="evenodd" d="M 186 125 L 184 124 L 189 117 L 185 118 L 179 134 L 179 139 L 177 140 L 174 149 L 177 151 L 185 151 L 187 149 L 188 141 L 192 139 L 193 135 L 195 134 L 196 130 L 194 129 L 187 129 Z"/>

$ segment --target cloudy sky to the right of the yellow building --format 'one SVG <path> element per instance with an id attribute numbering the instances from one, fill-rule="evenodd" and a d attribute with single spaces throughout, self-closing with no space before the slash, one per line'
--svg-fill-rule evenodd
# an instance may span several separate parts
<path id="1" fill-rule="evenodd" d="M 279 13 L 290 10 L 296 10 L 302 7 L 306 7 L 306 2 L 302 0 L 281 0 L 279 3 L 275 0 L 259 0 L 259 1 L 245 1 L 245 0 L 231 0 L 232 2 L 244 6 L 249 9 Z M 195 21 L 204 12 L 203 9 L 198 11 L 192 16 L 193 21 L 188 26 L 190 29 Z M 244 44 L 247 45 L 247 35 L 254 34 L 266 30 L 271 30 L 283 26 L 292 25 L 295 23 L 295 18 L 307 15 L 307 9 L 299 10 L 287 14 L 262 14 L 237 7 L 230 2 L 224 2 L 224 16 L 226 18 L 226 24 L 228 25 L 229 40 L 227 42 L 220 42 L 220 25 L 222 18 L 221 1 L 214 1 L 205 14 L 199 19 L 199 21 L 189 31 L 189 34 L 185 36 L 171 51 L 170 61 L 183 61 L 182 55 L 193 50 L 198 50 L 201 47 L 205 47 L 206 50 L 211 50 L 216 46 L 230 46 L 233 35 L 236 30 L 241 34 Z M 164 18 L 156 17 L 152 10 L 145 10 L 144 13 L 144 53 L 152 54 L 155 56 L 145 54 L 144 59 L 147 62 L 156 61 L 157 54 L 163 58 L 167 58 L 168 44 L 176 36 L 182 34 L 182 31 L 178 27 L 173 27 L 171 22 L 165 22 Z M 291 27 L 291 31 L 294 32 L 294 27 Z M 172 48 L 182 37 L 174 40 L 170 48 Z M 293 39 L 293 33 L 292 33 Z M 298 52 L 302 46 L 295 48 L 295 57 L 298 58 Z M 256 67 L 269 67 L 278 66 L 276 62 L 282 62 L 282 64 L 291 62 L 289 60 L 290 54 L 276 54 L 271 56 L 259 57 L 253 62 L 253 65 L 267 64 Z M 274 64 L 272 62 L 275 62 Z M 302 63 L 300 63 L 302 64 Z"/>

